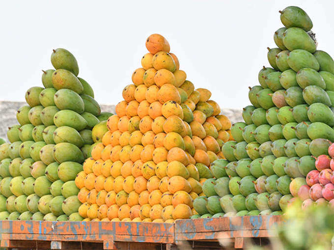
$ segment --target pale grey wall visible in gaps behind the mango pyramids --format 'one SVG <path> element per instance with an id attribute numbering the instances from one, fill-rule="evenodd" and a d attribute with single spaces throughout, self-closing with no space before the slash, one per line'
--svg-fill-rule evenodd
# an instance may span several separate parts
<path id="1" fill-rule="evenodd" d="M 18 101 L 0 101 L 0 137 L 7 140 L 8 126 L 16 125 L 16 111 L 23 105 L 27 105 L 25 102 Z M 106 104 L 101 105 L 103 112 L 115 112 L 115 105 Z M 242 121 L 242 111 L 237 109 L 222 109 L 222 114 L 226 115 L 232 123 Z"/>

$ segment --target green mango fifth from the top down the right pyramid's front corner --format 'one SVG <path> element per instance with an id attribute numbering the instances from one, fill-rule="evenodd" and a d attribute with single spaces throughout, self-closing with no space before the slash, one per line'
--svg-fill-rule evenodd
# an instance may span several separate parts
<path id="1" fill-rule="evenodd" d="M 303 90 L 303 98 L 308 105 L 315 102 L 324 103 L 327 106 L 332 106 L 332 102 L 325 90 L 316 85 L 307 86 Z"/>

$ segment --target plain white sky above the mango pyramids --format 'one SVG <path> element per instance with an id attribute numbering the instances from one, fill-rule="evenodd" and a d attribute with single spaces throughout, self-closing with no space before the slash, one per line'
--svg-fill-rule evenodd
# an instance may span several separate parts
<path id="1" fill-rule="evenodd" d="M 42 86 L 41 70 L 60 47 L 75 55 L 95 99 L 115 104 L 141 67 L 145 39 L 159 33 L 195 88 L 209 89 L 221 107 L 242 108 L 270 66 L 278 10 L 290 5 L 306 11 L 318 49 L 334 56 L 331 0 L 1 0 L 0 100 L 23 101 L 29 87 Z"/>

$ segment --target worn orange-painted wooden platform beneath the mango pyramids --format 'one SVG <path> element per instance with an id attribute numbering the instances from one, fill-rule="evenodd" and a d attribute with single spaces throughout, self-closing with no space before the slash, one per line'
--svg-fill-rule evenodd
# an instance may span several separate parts
<path id="1" fill-rule="evenodd" d="M 280 216 L 179 220 L 174 224 L 136 222 L 0 221 L 1 248 L 7 249 L 243 249 L 265 245 Z M 219 241 L 229 244 L 221 247 Z"/>

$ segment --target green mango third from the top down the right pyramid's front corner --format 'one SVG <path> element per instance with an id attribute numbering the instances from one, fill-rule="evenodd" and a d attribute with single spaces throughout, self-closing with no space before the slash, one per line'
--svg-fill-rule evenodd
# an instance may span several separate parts
<path id="1" fill-rule="evenodd" d="M 310 52 L 306 50 L 292 50 L 288 53 L 287 63 L 291 69 L 298 72 L 303 68 L 319 71 L 320 64 Z"/>

